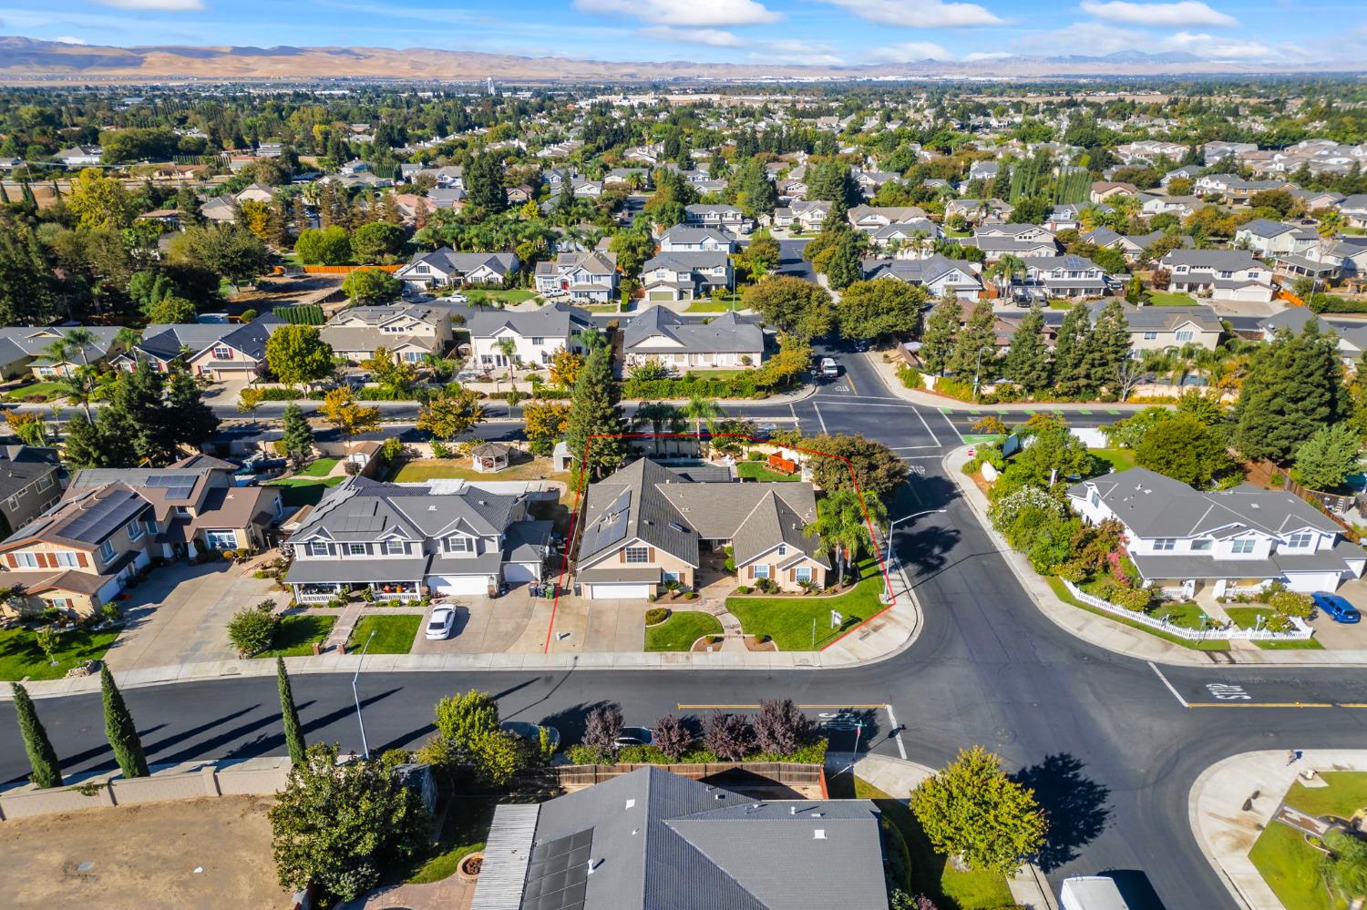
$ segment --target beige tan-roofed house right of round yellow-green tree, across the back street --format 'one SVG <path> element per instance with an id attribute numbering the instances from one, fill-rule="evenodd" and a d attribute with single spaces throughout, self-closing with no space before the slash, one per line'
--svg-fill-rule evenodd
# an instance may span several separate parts
<path id="1" fill-rule="evenodd" d="M 436 303 L 353 306 L 328 320 L 319 336 L 351 363 L 372 358 L 380 347 L 417 363 L 451 346 L 451 310 Z"/>

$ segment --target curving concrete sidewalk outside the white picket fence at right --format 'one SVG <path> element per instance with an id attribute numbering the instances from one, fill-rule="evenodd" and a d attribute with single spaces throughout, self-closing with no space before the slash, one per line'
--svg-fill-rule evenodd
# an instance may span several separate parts
<path id="1" fill-rule="evenodd" d="M 979 522 L 987 532 L 997 551 L 1006 560 L 1006 564 L 1016 573 L 1021 588 L 1031 596 L 1035 605 L 1048 619 L 1083 641 L 1105 648 L 1117 654 L 1125 654 L 1137 660 L 1150 660 L 1155 664 L 1170 664 L 1180 667 L 1213 667 L 1213 665 L 1273 665 L 1273 667 L 1362 667 L 1367 664 L 1367 650 L 1266 650 L 1262 648 L 1239 648 L 1237 650 L 1214 652 L 1184 648 L 1147 631 L 1125 626 L 1124 623 L 1107 619 L 1098 613 L 1088 612 L 1065 604 L 1053 589 L 1040 578 L 1029 560 L 1023 553 L 1012 549 L 997 533 L 987 519 L 987 496 L 983 491 L 964 474 L 964 465 L 968 463 L 971 445 L 962 445 L 949 452 L 943 459 L 945 473 L 958 488 L 958 492 L 968 501 L 977 515 Z M 1251 642 L 1249 642 L 1251 644 Z"/>

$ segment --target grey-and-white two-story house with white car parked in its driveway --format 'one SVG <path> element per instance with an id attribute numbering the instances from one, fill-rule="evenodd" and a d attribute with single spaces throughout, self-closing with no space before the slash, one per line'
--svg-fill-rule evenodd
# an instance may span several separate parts
<path id="1" fill-rule="evenodd" d="M 316 604 L 365 588 L 381 600 L 416 600 L 539 582 L 551 522 L 528 515 L 545 496 L 555 493 L 347 478 L 290 536 L 284 583 L 301 604 Z"/>

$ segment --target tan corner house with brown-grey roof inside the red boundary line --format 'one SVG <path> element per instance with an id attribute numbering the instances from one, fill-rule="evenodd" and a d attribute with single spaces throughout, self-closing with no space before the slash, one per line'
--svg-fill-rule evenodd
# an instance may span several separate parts
<path id="1" fill-rule="evenodd" d="M 704 556 L 731 547 L 745 585 L 824 588 L 831 564 L 802 533 L 813 521 L 811 484 L 699 482 L 641 458 L 589 485 L 574 582 L 589 600 L 645 600 L 666 582 L 696 586 Z"/>

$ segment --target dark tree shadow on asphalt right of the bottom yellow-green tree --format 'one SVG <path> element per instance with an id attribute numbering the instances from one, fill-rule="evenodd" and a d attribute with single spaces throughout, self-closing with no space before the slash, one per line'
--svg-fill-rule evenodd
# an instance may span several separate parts
<path id="1" fill-rule="evenodd" d="M 1046 873 L 1077 858 L 1110 820 L 1110 788 L 1083 776 L 1083 762 L 1069 754 L 1047 756 L 1012 779 L 1035 791 L 1048 817 L 1048 835 L 1035 861 Z"/>

